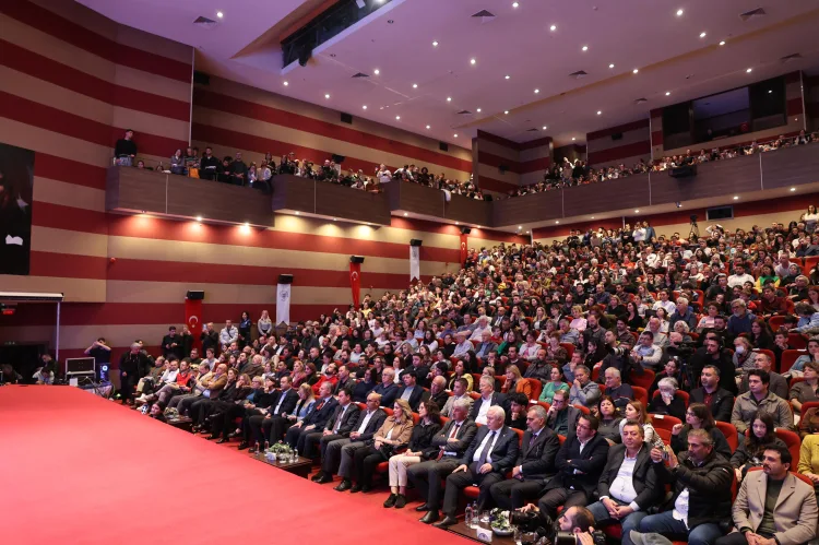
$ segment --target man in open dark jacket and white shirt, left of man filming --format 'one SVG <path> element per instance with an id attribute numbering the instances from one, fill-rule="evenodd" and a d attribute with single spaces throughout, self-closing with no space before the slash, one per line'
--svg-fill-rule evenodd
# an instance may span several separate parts
<path id="1" fill-rule="evenodd" d="M 643 427 L 636 422 L 622 426 L 622 445 L 608 450 L 608 460 L 597 482 L 600 501 L 589 506 L 595 525 L 621 526 L 622 545 L 633 545 L 631 531 L 640 526 L 648 509 L 661 497 L 651 447 L 643 442 Z"/>

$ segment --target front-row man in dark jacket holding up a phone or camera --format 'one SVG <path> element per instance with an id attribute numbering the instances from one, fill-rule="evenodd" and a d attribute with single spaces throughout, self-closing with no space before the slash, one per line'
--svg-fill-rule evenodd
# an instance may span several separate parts
<path id="1" fill-rule="evenodd" d="M 670 509 L 640 521 L 640 532 L 687 535 L 689 545 L 712 544 L 722 535 L 720 522 L 731 517 L 731 463 L 714 451 L 704 429 L 688 433 L 688 450 L 677 457 L 670 447 L 651 449 L 657 484 L 672 485 Z"/>

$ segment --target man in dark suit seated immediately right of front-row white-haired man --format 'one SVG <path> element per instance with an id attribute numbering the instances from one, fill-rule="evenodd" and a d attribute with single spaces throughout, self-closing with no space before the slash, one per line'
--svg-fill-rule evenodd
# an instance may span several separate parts
<path id="1" fill-rule="evenodd" d="M 505 511 L 520 509 L 525 499 L 537 497 L 544 481 L 555 474 L 560 441 L 557 434 L 546 427 L 544 407 L 535 405 L 529 410 L 526 428 L 512 478 L 496 483 L 489 489 L 495 503 Z"/>

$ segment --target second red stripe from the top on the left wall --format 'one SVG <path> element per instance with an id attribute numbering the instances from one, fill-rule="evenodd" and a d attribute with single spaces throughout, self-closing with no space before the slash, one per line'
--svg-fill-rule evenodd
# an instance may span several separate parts
<path id="1" fill-rule="evenodd" d="M 2 39 L 0 48 L 5 49 L 0 64 L 17 72 L 121 108 L 190 121 L 190 104 L 187 102 L 110 83 Z"/>

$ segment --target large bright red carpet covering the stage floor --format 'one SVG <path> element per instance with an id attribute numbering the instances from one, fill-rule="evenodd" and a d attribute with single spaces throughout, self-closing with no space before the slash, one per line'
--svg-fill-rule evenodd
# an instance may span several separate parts
<path id="1" fill-rule="evenodd" d="M 465 544 L 70 387 L 0 388 L 0 543 Z"/>

